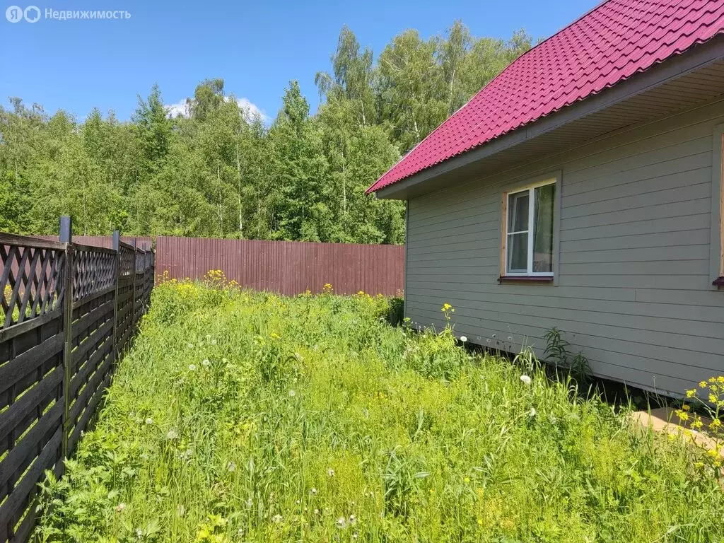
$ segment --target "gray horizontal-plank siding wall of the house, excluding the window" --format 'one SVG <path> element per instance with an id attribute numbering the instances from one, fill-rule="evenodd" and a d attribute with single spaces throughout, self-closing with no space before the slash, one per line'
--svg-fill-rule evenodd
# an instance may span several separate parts
<path id="1" fill-rule="evenodd" d="M 406 315 L 439 329 L 447 302 L 457 335 L 539 356 L 558 327 L 594 374 L 664 393 L 724 374 L 724 291 L 710 266 L 723 122 L 717 101 L 411 199 Z M 561 180 L 557 284 L 500 285 L 502 188 L 548 173 Z"/>

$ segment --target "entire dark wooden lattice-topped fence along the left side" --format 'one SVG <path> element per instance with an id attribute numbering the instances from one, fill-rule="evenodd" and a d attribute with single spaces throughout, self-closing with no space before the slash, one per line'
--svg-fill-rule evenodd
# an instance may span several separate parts
<path id="1" fill-rule="evenodd" d="M 154 256 L 0 233 L 0 543 L 25 542 L 148 307 Z"/>

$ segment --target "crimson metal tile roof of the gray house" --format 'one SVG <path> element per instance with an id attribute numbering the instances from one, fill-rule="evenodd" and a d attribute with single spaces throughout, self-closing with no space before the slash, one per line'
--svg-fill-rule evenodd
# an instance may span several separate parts
<path id="1" fill-rule="evenodd" d="M 722 32 L 723 0 L 609 0 L 519 56 L 367 192 L 592 96 Z"/>

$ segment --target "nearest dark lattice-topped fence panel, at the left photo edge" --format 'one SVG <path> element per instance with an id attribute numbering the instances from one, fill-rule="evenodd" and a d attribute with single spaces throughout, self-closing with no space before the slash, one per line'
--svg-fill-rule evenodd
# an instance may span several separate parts
<path id="1" fill-rule="evenodd" d="M 62 450 L 64 245 L 0 235 L 0 542 L 33 528 L 33 500 Z"/>

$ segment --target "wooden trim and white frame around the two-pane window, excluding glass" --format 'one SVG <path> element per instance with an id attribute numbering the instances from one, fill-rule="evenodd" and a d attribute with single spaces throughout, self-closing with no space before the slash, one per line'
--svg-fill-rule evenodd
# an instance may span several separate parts
<path id="1" fill-rule="evenodd" d="M 511 194 L 522 193 L 526 190 L 544 187 L 546 185 L 556 185 L 555 201 L 553 206 L 553 271 L 538 271 L 534 273 L 510 274 L 508 273 L 508 197 Z M 500 206 L 500 277 L 499 283 L 531 283 L 531 284 L 551 284 L 555 279 L 555 268 L 557 266 L 557 242 L 559 232 L 557 221 L 560 220 L 560 174 L 551 174 L 540 177 L 539 180 L 529 182 L 526 185 L 518 185 L 503 190 Z M 529 201 L 529 213 L 532 214 L 533 201 Z M 529 232 L 531 229 L 529 216 Z M 529 239 L 532 235 L 529 233 Z M 529 245 L 530 247 L 530 245 Z M 531 255 L 529 253 L 529 258 Z"/>

